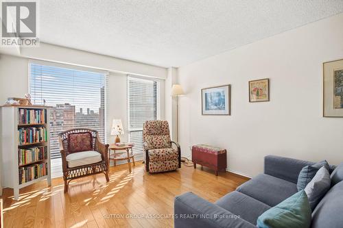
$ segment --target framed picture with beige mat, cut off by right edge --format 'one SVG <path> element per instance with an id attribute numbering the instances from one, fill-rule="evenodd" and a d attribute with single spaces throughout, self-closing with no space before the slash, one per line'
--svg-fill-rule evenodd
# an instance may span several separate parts
<path id="1" fill-rule="evenodd" d="M 323 116 L 343 117 L 343 60 L 323 63 Z"/>

